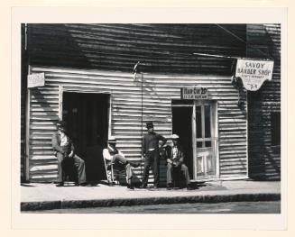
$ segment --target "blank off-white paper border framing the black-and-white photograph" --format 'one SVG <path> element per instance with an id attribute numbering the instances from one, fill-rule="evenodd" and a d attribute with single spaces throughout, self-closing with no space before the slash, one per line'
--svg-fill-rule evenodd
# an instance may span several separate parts
<path id="1" fill-rule="evenodd" d="M 263 17 L 262 17 L 263 11 Z M 180 15 L 180 17 L 175 17 Z M 23 214 L 20 213 L 21 23 L 281 23 L 281 214 Z M 287 210 L 286 8 L 12 8 L 12 228 L 110 230 L 283 230 Z"/>

